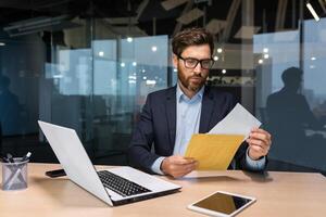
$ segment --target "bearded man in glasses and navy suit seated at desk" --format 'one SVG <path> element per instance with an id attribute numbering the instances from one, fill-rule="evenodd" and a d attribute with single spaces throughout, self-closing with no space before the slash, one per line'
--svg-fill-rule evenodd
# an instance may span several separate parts
<path id="1" fill-rule="evenodd" d="M 212 35 L 202 28 L 186 29 L 173 38 L 172 47 L 173 64 L 178 69 L 177 86 L 148 95 L 128 157 L 131 166 L 147 173 L 178 178 L 198 164 L 183 156 L 192 133 L 208 132 L 236 102 L 230 94 L 204 86 L 213 65 Z M 264 169 L 271 135 L 253 129 L 247 142 L 241 144 L 229 168 Z"/>

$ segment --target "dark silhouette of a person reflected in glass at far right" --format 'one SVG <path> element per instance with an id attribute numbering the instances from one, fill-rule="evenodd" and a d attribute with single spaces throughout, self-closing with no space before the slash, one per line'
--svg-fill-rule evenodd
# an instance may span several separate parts
<path id="1" fill-rule="evenodd" d="M 299 158 L 309 162 L 309 157 L 314 155 L 311 148 L 324 142 L 322 137 L 305 135 L 305 129 L 321 129 L 323 125 L 300 93 L 302 75 L 298 67 L 284 71 L 284 88 L 268 95 L 266 104 L 266 129 L 274 140 L 271 155 L 289 162 L 298 162 Z"/>

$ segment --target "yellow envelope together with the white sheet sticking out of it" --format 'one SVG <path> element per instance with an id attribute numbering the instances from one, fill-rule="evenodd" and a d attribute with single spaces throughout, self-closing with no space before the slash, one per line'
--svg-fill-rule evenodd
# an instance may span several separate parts
<path id="1" fill-rule="evenodd" d="M 239 103 L 205 135 L 192 135 L 185 156 L 199 162 L 198 170 L 225 170 L 253 127 L 261 122 Z"/>

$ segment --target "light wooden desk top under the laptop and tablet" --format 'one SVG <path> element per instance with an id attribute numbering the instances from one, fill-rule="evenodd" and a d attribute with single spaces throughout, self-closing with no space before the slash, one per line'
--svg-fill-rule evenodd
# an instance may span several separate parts
<path id="1" fill-rule="evenodd" d="M 179 193 L 110 207 L 66 177 L 50 179 L 43 175 L 55 168 L 59 165 L 29 164 L 26 190 L 0 191 L 0 216 L 204 216 L 186 206 L 217 190 L 258 199 L 240 217 L 326 215 L 326 179 L 319 174 L 268 173 L 263 177 L 231 170 L 210 173 L 217 177 L 172 180 L 183 186 Z"/>

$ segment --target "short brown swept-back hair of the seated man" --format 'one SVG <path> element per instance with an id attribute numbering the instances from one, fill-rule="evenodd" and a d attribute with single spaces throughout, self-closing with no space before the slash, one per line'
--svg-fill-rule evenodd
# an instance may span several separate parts
<path id="1" fill-rule="evenodd" d="M 187 28 L 177 33 L 172 39 L 172 50 L 176 55 L 180 55 L 189 46 L 209 44 L 211 55 L 214 52 L 213 36 L 204 28 Z"/>

